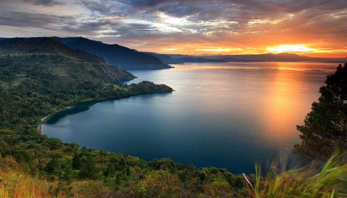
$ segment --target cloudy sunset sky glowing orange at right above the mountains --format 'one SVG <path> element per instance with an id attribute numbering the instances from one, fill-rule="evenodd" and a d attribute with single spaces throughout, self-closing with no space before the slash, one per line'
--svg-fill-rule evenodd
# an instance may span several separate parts
<path id="1" fill-rule="evenodd" d="M 0 0 L 0 37 L 170 54 L 347 56 L 347 0 Z"/>

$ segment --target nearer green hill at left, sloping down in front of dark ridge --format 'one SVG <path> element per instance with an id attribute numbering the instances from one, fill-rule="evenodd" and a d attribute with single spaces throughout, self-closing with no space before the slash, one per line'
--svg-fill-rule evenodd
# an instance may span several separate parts
<path id="1" fill-rule="evenodd" d="M 80 49 L 70 49 L 52 38 L 11 38 L 0 40 L 0 58 L 17 61 L 18 67 L 39 69 L 66 81 L 116 83 L 136 78 L 102 58 Z M 9 54 L 6 56 L 5 54 Z M 5 57 L 3 57 L 5 56 Z M 62 81 L 58 81 L 62 83 Z M 73 84 L 73 82 L 71 82 Z"/>

